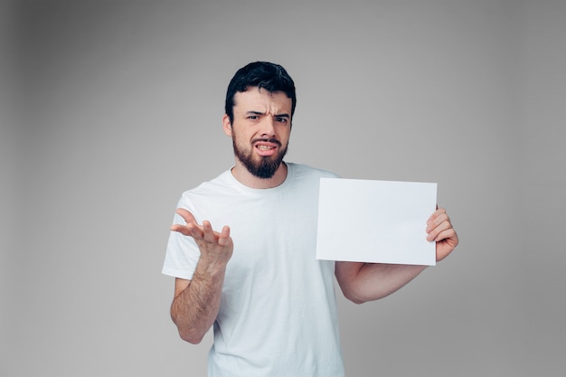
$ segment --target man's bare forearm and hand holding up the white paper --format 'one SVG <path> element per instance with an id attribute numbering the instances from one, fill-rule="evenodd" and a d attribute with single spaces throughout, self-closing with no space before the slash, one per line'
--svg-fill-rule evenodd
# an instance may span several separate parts
<path id="1" fill-rule="evenodd" d="M 427 221 L 427 240 L 436 241 L 437 261 L 458 245 L 447 212 L 440 208 Z M 356 304 L 391 295 L 426 269 L 426 266 L 336 261 L 335 275 L 344 296 Z"/>

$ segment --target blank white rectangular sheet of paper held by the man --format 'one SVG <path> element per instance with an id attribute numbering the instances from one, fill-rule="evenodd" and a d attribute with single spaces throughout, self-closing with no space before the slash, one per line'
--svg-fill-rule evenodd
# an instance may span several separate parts
<path id="1" fill-rule="evenodd" d="M 437 184 L 321 178 L 316 259 L 436 265 Z"/>

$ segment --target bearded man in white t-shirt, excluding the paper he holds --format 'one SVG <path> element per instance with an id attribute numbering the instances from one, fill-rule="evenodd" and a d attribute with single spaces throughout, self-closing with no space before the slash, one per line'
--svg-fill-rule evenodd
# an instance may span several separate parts
<path id="1" fill-rule="evenodd" d="M 237 71 L 222 118 L 235 165 L 178 204 L 163 269 L 175 277 L 171 316 L 192 344 L 213 325 L 211 376 L 342 376 L 334 278 L 360 304 L 425 269 L 315 258 L 318 185 L 335 174 L 283 162 L 296 101 L 281 66 Z M 444 259 L 458 244 L 447 213 L 425 227 Z"/>

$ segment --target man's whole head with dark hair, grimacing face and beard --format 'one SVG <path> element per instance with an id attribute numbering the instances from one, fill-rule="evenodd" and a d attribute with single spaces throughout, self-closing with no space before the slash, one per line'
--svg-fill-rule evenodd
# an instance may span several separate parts
<path id="1" fill-rule="evenodd" d="M 283 67 L 258 61 L 237 71 L 226 95 L 224 132 L 250 174 L 269 179 L 287 153 L 295 85 Z"/>

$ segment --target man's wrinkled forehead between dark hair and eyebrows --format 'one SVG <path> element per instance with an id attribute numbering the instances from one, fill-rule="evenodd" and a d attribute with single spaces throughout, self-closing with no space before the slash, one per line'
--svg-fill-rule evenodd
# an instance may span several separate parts
<path id="1" fill-rule="evenodd" d="M 238 91 L 234 95 L 234 109 L 261 110 L 291 113 L 292 101 L 282 91 L 269 91 L 258 87 Z"/>

